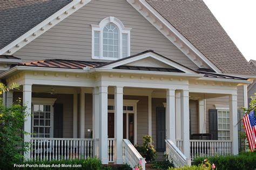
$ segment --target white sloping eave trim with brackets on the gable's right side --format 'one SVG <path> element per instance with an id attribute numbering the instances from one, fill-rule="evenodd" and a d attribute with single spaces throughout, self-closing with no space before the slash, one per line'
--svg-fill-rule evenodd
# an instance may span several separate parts
<path id="1" fill-rule="evenodd" d="M 208 66 L 210 66 L 215 72 L 217 73 L 221 73 L 221 70 L 218 69 L 217 66 L 215 66 L 207 57 L 205 57 L 203 55 L 203 53 L 201 53 L 193 44 L 190 43 L 189 40 L 187 40 L 183 35 L 181 35 L 181 33 L 175 29 L 170 22 L 166 21 L 166 19 L 160 15 L 160 13 L 158 13 L 149 3 L 147 3 L 145 0 L 126 0 L 128 3 L 130 3 L 134 9 L 136 9 L 140 14 L 142 14 L 147 21 L 149 21 L 151 24 L 153 24 L 161 33 L 163 33 L 163 35 L 171 40 L 171 42 L 176 42 L 173 43 L 174 45 L 176 45 L 181 51 L 183 51 L 183 53 L 192 60 L 192 62 L 196 65 L 198 65 L 199 67 L 203 66 L 204 62 L 205 64 L 207 64 Z M 138 3 L 142 4 L 138 4 Z M 143 11 L 146 10 L 146 11 Z M 152 17 L 151 17 L 152 16 Z M 160 24 L 160 25 L 159 25 Z M 164 26 L 167 28 L 167 33 L 165 31 Z M 172 38 L 170 37 L 170 31 L 172 32 L 173 36 Z M 181 45 L 178 42 L 177 38 L 181 41 Z M 184 52 L 184 46 L 183 43 L 194 52 L 194 56 L 189 55 L 190 52 Z M 189 50 L 188 50 L 189 51 Z M 197 60 L 192 59 L 193 57 L 199 57 L 198 59 L 201 60 L 200 62 L 196 62 Z"/>

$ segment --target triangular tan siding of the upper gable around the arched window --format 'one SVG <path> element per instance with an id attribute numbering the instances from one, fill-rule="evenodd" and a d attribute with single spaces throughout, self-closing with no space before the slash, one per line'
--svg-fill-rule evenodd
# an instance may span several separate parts
<path id="1" fill-rule="evenodd" d="M 14 55 L 28 60 L 62 58 L 91 60 L 91 24 L 114 16 L 131 30 L 131 55 L 152 49 L 197 69 L 190 59 L 140 15 L 126 0 L 92 1 L 33 40 Z"/>

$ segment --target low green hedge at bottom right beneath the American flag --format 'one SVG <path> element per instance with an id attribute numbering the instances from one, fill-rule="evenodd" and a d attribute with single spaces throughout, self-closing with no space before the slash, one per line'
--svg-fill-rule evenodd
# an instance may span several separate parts
<path id="1" fill-rule="evenodd" d="M 205 157 L 194 159 L 193 165 L 199 165 Z M 208 157 L 209 161 L 214 162 L 218 169 L 256 169 L 256 152 L 240 153 L 233 156 Z"/>

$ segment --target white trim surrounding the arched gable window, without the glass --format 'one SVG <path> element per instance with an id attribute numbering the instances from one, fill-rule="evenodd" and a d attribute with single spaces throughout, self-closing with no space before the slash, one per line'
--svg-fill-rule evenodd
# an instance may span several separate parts
<path id="1" fill-rule="evenodd" d="M 103 57 L 103 29 L 109 23 L 112 23 L 117 26 L 118 35 L 119 35 L 119 50 L 118 50 L 118 58 L 110 58 L 110 57 Z M 123 34 L 127 36 L 127 56 L 130 56 L 130 31 L 131 28 L 125 28 L 124 24 L 117 19 L 116 17 L 106 17 L 100 21 L 99 25 L 91 24 L 92 27 L 92 59 L 104 59 L 104 60 L 117 60 L 123 58 Z M 99 57 L 94 55 L 94 39 L 95 39 L 95 32 L 99 32 Z"/>

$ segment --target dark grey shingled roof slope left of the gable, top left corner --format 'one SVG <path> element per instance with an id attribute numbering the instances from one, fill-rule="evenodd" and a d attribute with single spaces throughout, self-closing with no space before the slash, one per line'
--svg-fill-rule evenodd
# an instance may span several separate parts
<path id="1" fill-rule="evenodd" d="M 0 49 L 50 17 L 72 0 L 0 2 Z"/>

